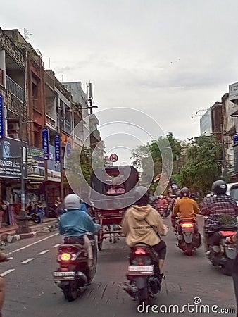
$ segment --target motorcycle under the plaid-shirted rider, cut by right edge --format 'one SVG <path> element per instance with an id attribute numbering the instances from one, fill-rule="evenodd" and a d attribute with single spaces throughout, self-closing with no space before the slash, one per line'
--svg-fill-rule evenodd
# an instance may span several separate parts
<path id="1" fill-rule="evenodd" d="M 232 266 L 237 256 L 237 248 L 234 244 L 227 244 L 226 238 L 237 231 L 234 226 L 220 226 L 216 232 L 209 237 L 209 247 L 206 255 L 213 266 L 221 266 L 225 275 L 232 275 Z"/>

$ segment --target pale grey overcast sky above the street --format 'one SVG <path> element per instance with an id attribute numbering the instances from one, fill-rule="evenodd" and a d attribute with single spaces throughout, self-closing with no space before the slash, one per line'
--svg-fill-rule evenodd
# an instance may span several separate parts
<path id="1" fill-rule="evenodd" d="M 144 111 L 178 139 L 238 81 L 237 0 L 8 0 L 2 29 L 27 28 L 58 80 L 91 81 L 98 110 Z"/>

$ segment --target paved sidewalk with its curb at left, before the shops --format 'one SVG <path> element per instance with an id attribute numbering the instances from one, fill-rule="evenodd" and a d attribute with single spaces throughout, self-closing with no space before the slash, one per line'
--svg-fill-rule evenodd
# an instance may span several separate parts
<path id="1" fill-rule="evenodd" d="M 34 223 L 29 221 L 30 233 L 16 234 L 18 225 L 9 225 L 9 227 L 0 229 L 0 245 L 4 242 L 15 242 L 16 240 L 25 239 L 29 237 L 36 237 L 40 233 L 48 233 L 58 228 L 58 220 L 56 218 L 44 218 L 43 223 Z"/>

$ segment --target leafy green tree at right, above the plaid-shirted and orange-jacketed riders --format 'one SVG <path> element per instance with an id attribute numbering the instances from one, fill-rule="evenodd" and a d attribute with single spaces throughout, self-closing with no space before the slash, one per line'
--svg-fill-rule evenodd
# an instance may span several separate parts
<path id="1" fill-rule="evenodd" d="M 211 184 L 220 178 L 222 148 L 213 137 L 201 136 L 191 139 L 187 147 L 187 163 L 175 175 L 181 187 L 206 194 Z"/>

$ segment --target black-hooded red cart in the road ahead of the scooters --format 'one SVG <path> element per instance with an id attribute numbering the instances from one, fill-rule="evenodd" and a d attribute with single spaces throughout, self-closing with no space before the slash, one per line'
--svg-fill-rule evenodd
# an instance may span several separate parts
<path id="1" fill-rule="evenodd" d="M 101 225 L 99 251 L 104 239 L 117 242 L 122 235 L 120 223 L 127 208 L 134 203 L 133 189 L 138 181 L 139 175 L 134 166 L 96 168 L 92 173 L 90 201 L 96 220 Z"/>

